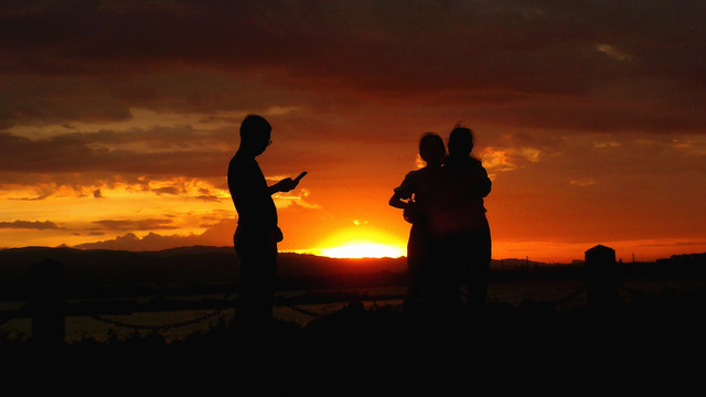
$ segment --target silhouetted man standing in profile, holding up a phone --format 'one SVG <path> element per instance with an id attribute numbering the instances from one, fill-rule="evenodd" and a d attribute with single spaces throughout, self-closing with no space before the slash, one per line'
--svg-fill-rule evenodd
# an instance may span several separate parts
<path id="1" fill-rule="evenodd" d="M 260 116 L 247 116 L 240 124 L 240 146 L 228 165 L 228 189 L 238 213 L 233 236 L 240 259 L 240 288 L 236 319 L 247 324 L 267 324 L 272 319 L 277 243 L 282 233 L 271 195 L 297 187 L 302 175 L 268 186 L 255 158 L 265 152 L 271 127 Z"/>

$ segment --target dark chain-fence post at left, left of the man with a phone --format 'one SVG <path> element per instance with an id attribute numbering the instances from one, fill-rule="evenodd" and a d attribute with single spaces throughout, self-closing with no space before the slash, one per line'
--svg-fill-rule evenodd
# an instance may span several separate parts
<path id="1" fill-rule="evenodd" d="M 60 345 L 65 340 L 64 265 L 46 259 L 32 267 L 32 342 Z"/>

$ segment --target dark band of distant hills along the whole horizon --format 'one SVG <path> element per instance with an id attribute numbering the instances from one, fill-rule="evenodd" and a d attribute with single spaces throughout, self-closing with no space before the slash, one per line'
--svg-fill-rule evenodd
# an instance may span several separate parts
<path id="1" fill-rule="evenodd" d="M 31 268 L 51 259 L 65 267 L 72 297 L 119 297 L 154 293 L 232 291 L 238 259 L 232 247 L 183 247 L 162 251 L 79 250 L 26 247 L 0 250 L 0 299 L 26 299 Z M 619 277 L 706 277 L 706 254 L 681 255 L 650 262 L 618 262 Z M 493 260 L 491 281 L 584 278 L 585 267 L 527 259 Z M 277 289 L 344 289 L 404 286 L 405 258 L 335 259 L 280 254 Z"/>

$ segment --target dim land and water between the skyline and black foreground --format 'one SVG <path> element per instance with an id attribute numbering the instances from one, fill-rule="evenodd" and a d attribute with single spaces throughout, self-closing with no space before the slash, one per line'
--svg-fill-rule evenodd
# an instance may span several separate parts
<path id="1" fill-rule="evenodd" d="M 617 264 L 620 301 L 706 290 L 703 256 L 685 258 L 691 259 Z M 29 318 L 3 319 L 3 313 L 26 305 L 31 267 L 44 259 L 64 265 L 67 303 L 94 313 L 66 315 L 68 343 L 127 339 L 138 331 L 159 332 L 167 342 L 181 341 L 234 316 L 237 258 L 232 249 L 191 247 L 160 253 L 11 249 L 0 251 L 2 339 L 25 341 L 31 335 Z M 334 314 L 352 302 L 368 310 L 398 310 L 405 296 L 405 258 L 346 260 L 282 254 L 279 270 L 275 316 L 301 326 Z M 582 264 L 494 261 L 488 302 L 512 308 L 544 305 L 557 312 L 582 308 L 587 305 L 584 276 Z M 96 308 L 107 309 L 104 314 L 95 314 L 100 310 Z"/>

